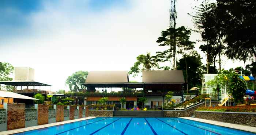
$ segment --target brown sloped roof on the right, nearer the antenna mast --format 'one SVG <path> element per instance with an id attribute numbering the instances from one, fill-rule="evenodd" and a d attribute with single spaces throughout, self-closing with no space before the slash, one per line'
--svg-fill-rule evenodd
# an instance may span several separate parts
<path id="1" fill-rule="evenodd" d="M 160 84 L 184 84 L 182 70 L 142 71 L 142 82 Z"/>

